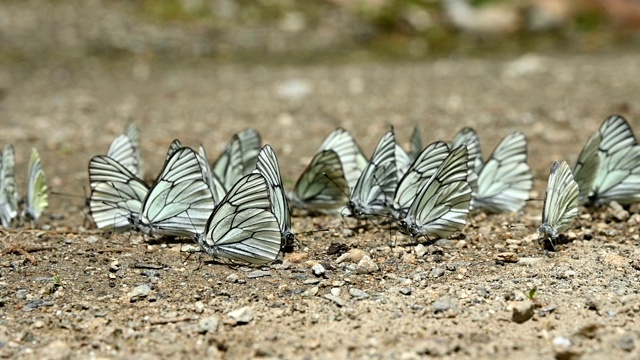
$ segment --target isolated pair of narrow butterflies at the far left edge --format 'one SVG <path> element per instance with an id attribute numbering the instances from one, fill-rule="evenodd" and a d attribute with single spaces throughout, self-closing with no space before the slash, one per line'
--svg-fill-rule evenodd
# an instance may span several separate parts
<path id="1" fill-rule="evenodd" d="M 45 177 L 40 155 L 31 150 L 27 173 L 27 196 L 18 193 L 14 165 L 16 153 L 13 145 L 5 145 L 0 156 L 0 223 L 3 227 L 13 227 L 25 222 L 35 223 L 49 205 L 47 178 Z"/>

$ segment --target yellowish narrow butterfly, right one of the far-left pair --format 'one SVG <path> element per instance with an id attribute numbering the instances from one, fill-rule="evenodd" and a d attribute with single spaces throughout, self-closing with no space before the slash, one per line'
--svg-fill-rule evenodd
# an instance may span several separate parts
<path id="1" fill-rule="evenodd" d="M 40 164 L 40 155 L 35 148 L 31 149 L 27 179 L 27 197 L 25 198 L 23 217 L 35 222 L 49 205 L 47 178 Z"/>

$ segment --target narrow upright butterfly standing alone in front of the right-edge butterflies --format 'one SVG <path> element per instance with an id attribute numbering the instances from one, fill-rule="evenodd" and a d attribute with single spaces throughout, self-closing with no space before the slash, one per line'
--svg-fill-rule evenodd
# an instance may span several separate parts
<path id="1" fill-rule="evenodd" d="M 538 229 L 539 241 L 545 248 L 553 249 L 560 233 L 571 227 L 578 216 L 578 194 L 579 187 L 569 165 L 554 161 L 547 182 L 542 225 Z"/>

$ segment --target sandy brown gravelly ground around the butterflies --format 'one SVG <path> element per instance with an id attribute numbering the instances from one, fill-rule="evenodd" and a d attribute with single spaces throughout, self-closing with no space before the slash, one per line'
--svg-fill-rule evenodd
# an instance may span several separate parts
<path id="1" fill-rule="evenodd" d="M 519 214 L 476 214 L 463 235 L 424 245 L 389 227 L 296 216 L 305 246 L 283 261 L 250 268 L 203 257 L 200 267 L 180 242 L 95 230 L 84 196 L 89 159 L 134 119 L 150 179 L 172 139 L 202 142 L 215 157 L 251 126 L 276 150 L 289 187 L 337 126 L 368 154 L 391 125 L 404 142 L 418 125 L 425 143 L 473 126 L 485 157 L 520 130 L 529 139 L 532 195 L 541 200 L 552 161 L 573 163 L 606 116 L 620 112 L 640 126 L 637 59 L 5 65 L 0 143 L 16 147 L 21 189 L 36 147 L 51 190 L 66 195 L 51 195 L 39 223 L 45 230 L 2 233 L 0 356 L 636 359 L 640 215 L 633 211 L 585 211 L 574 240 L 552 254 L 535 241 L 541 201 Z M 305 234 L 317 228 L 330 230 Z M 17 248 L 29 256 L 7 254 Z M 339 262 L 346 249 L 362 252 Z M 375 264 L 358 263 L 362 255 Z M 321 276 L 311 270 L 318 263 Z M 136 298 L 141 285 L 150 291 Z M 229 315 L 241 308 L 244 318 Z M 524 322 L 514 321 L 514 308 Z"/>

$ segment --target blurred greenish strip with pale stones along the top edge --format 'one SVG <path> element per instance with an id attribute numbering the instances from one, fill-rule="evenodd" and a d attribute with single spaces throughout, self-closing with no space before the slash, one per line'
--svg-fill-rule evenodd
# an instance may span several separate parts
<path id="1" fill-rule="evenodd" d="M 3 0 L 0 61 L 593 52 L 637 46 L 639 28 L 635 0 Z"/>

